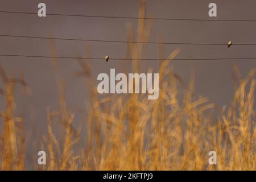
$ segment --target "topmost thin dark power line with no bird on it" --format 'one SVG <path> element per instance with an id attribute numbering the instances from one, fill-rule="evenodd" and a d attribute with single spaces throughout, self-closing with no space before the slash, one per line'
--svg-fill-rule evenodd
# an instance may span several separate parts
<path id="1" fill-rule="evenodd" d="M 0 11 L 0 13 L 13 13 L 13 14 L 36 14 L 32 12 L 22 12 L 22 11 Z M 175 21 L 209 21 L 209 22 L 256 22 L 256 20 L 252 19 L 179 19 L 179 18 L 139 18 L 133 16 L 103 16 L 103 15 L 74 15 L 74 14 L 53 14 L 47 13 L 47 15 L 52 16 L 77 16 L 77 17 L 88 17 L 88 18 L 115 18 L 115 19 L 150 19 L 150 20 L 175 20 Z"/>

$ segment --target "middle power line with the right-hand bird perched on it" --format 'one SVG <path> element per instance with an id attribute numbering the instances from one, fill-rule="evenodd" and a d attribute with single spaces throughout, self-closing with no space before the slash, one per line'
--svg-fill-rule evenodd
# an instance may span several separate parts
<path id="1" fill-rule="evenodd" d="M 143 44 L 176 44 L 176 45 L 201 45 L 201 46 L 227 46 L 228 44 L 220 43 L 171 43 L 171 42 L 134 42 L 134 41 L 125 41 L 125 40 L 97 40 L 97 39 L 71 39 L 71 38 L 48 38 L 43 36 L 23 36 L 23 35 L 4 35 L 0 36 L 11 37 L 11 38 L 29 38 L 29 39 L 54 39 L 54 40 L 72 40 L 72 41 L 85 41 L 85 42 L 109 42 L 109 43 L 143 43 Z M 253 44 L 236 44 L 233 43 L 233 46 L 256 46 L 256 43 Z"/>

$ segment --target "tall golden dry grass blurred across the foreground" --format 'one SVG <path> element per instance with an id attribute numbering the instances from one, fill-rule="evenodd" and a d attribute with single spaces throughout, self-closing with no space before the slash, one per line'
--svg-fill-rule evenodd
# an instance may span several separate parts
<path id="1" fill-rule="evenodd" d="M 144 17 L 145 4 L 141 1 L 139 16 Z M 150 20 L 138 22 L 138 41 L 147 42 Z M 129 40 L 134 40 L 133 29 L 128 24 Z M 51 35 L 50 35 L 51 36 Z M 52 55 L 56 56 L 51 40 Z M 133 72 L 139 71 L 139 59 L 143 44 L 129 44 L 133 59 Z M 161 47 L 159 48 L 161 49 Z M 88 50 L 88 49 L 86 49 Z M 173 59 L 179 49 L 170 53 Z M 86 51 L 89 54 L 89 51 Z M 161 54 L 160 54 L 161 55 Z M 89 56 L 88 56 L 89 57 Z M 86 103 L 88 114 L 84 121 L 86 134 L 84 147 L 80 141 L 81 126 L 73 128 L 75 117 L 65 101 L 65 87 L 61 81 L 57 60 L 52 60 L 59 88 L 59 110 L 48 109 L 47 135 L 42 137 L 38 150 L 46 150 L 47 165 L 40 167 L 34 161 L 34 169 L 48 170 L 255 170 L 256 129 L 254 109 L 255 69 L 245 78 L 236 68 L 238 81 L 230 106 L 218 107 L 205 97 L 195 97 L 194 80 L 188 86 L 173 72 L 170 60 L 159 67 L 159 98 L 147 100 L 147 96 L 106 95 L 98 93 L 88 64 L 79 61 L 82 71 L 75 76 L 86 78 L 91 102 Z M 148 72 L 152 72 L 148 69 Z M 24 121 L 16 117 L 14 85 L 20 79 L 7 77 L 1 68 L 6 98 L 0 138 L 0 169 L 23 170 L 25 168 Z M 29 90 L 29 89 L 28 89 Z M 23 90 L 24 92 L 24 90 Z M 63 127 L 64 140 L 58 140 L 53 121 Z M 217 152 L 217 165 L 208 164 L 208 152 Z M 36 155 L 36 154 L 35 154 Z"/>

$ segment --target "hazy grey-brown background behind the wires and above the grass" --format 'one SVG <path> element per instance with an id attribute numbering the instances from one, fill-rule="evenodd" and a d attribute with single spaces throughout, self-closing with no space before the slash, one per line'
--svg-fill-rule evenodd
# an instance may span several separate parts
<path id="1" fill-rule="evenodd" d="M 38 3 L 44 2 L 47 13 L 53 14 L 81 14 L 106 16 L 138 16 L 138 1 L 0 1 L 1 11 L 37 12 Z M 217 19 L 256 19 L 256 1 L 146 1 L 146 14 L 155 18 L 192 18 L 216 19 L 208 16 L 210 2 L 217 3 Z M 75 39 L 103 39 L 127 40 L 126 23 L 131 22 L 134 31 L 137 31 L 137 20 L 132 19 L 102 19 L 68 16 L 47 16 L 39 18 L 30 14 L 0 13 L 0 34 L 23 36 L 48 36 L 52 31 L 54 36 Z M 191 43 L 256 43 L 255 22 L 185 22 L 155 20 L 150 35 L 151 42 L 157 42 L 163 36 L 164 42 L 191 42 Z M 6 38 L 0 36 L 0 54 L 42 55 L 51 56 L 48 40 Z M 124 43 L 97 43 L 73 42 L 56 40 L 58 56 L 85 56 L 85 46 L 91 46 L 92 57 L 110 56 L 106 64 L 101 60 L 92 61 L 94 81 L 98 73 L 109 73 L 110 68 L 120 68 L 118 61 L 111 57 L 125 57 L 126 44 Z M 196 59 L 205 57 L 256 57 L 256 46 L 179 46 L 180 54 L 176 58 Z M 166 57 L 176 45 L 166 45 Z M 158 47 L 148 44 L 144 53 L 146 58 L 158 58 Z M 24 73 L 24 78 L 32 89 L 36 131 L 45 133 L 47 124 L 47 107 L 57 109 L 57 89 L 53 77 L 51 59 L 29 57 L 2 57 L 0 63 L 6 72 L 18 76 Z M 84 102 L 90 100 L 84 86 L 83 78 L 74 78 L 72 73 L 81 70 L 76 60 L 60 59 L 60 69 L 67 86 L 68 106 L 74 111 L 84 109 Z M 129 61 L 122 61 L 123 65 L 130 66 Z M 156 72 L 157 61 L 143 61 L 142 71 L 154 67 Z M 173 61 L 174 70 L 179 73 L 186 83 L 190 80 L 191 70 L 195 69 L 196 93 L 208 97 L 216 104 L 229 105 L 233 97 L 233 82 L 230 74 L 233 65 L 237 64 L 242 75 L 256 66 L 256 60 L 201 60 L 201 61 Z M 117 72 L 121 71 L 118 69 Z M 2 87 L 2 83 L 0 88 Z M 0 108 L 4 106 L 0 96 Z M 28 113 L 24 107 L 24 113 Z M 20 111 L 21 112 L 21 111 Z M 76 111 L 75 111 L 76 112 Z M 26 117 L 28 117 L 26 115 Z M 75 115 L 76 121 L 81 119 Z M 28 150 L 28 154 L 30 151 Z"/>

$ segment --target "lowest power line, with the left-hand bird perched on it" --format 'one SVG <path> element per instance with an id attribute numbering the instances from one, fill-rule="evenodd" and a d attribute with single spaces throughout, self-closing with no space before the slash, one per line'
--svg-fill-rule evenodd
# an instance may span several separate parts
<path id="1" fill-rule="evenodd" d="M 91 59 L 91 60 L 105 60 L 104 57 L 68 57 L 68 56 L 35 56 L 35 55 L 9 55 L 0 54 L 0 56 L 8 57 L 39 57 L 39 58 L 55 58 L 55 59 Z M 198 58 L 198 59 L 137 59 L 137 60 L 253 60 L 256 57 L 218 57 L 218 58 Z M 109 60 L 129 61 L 132 59 L 126 58 L 111 58 Z"/>

